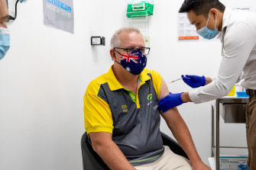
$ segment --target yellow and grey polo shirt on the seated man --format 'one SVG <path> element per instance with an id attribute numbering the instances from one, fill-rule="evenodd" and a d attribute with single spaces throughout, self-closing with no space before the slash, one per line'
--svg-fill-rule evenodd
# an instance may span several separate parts
<path id="1" fill-rule="evenodd" d="M 112 140 L 131 165 L 157 160 L 164 152 L 157 110 L 161 77 L 144 69 L 137 95 L 109 72 L 90 82 L 84 97 L 86 132 L 112 133 Z"/>

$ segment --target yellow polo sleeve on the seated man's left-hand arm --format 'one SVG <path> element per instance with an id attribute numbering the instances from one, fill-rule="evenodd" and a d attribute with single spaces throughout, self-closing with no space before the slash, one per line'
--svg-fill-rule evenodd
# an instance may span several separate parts
<path id="1" fill-rule="evenodd" d="M 109 104 L 90 92 L 86 92 L 84 97 L 84 121 L 87 134 L 91 132 L 112 133 L 114 128 Z"/>

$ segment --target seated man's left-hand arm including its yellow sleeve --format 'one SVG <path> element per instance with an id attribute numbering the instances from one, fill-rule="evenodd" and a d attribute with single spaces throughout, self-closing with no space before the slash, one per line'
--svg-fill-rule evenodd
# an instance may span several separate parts
<path id="1" fill-rule="evenodd" d="M 84 98 L 85 127 L 92 141 L 92 149 L 103 159 L 110 169 L 134 170 L 122 151 L 112 140 L 112 113 L 102 98 L 86 92 Z"/>

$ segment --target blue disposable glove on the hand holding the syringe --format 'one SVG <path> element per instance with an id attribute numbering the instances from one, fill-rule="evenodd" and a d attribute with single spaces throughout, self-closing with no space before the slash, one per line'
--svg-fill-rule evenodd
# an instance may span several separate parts
<path id="1" fill-rule="evenodd" d="M 206 77 L 203 75 L 202 77 L 197 75 L 181 75 L 183 82 L 186 85 L 190 85 L 191 88 L 199 88 L 201 86 L 206 85 Z"/>

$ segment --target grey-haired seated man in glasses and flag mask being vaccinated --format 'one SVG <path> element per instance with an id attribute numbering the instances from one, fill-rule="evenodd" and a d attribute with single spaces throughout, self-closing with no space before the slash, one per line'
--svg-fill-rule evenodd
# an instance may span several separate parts
<path id="1" fill-rule="evenodd" d="M 92 148 L 111 169 L 210 169 L 199 158 L 177 108 L 157 110 L 158 101 L 169 92 L 157 72 L 144 69 L 150 49 L 144 47 L 140 31 L 122 28 L 111 45 L 114 65 L 89 84 L 84 97 Z M 191 162 L 163 146 L 160 115 Z"/>

